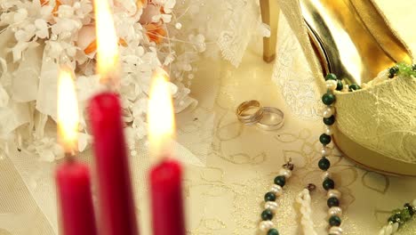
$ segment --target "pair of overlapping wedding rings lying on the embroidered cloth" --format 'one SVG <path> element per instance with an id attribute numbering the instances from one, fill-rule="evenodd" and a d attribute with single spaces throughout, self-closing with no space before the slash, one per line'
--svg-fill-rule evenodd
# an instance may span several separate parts
<path id="1" fill-rule="evenodd" d="M 260 101 L 244 101 L 236 109 L 238 120 L 247 126 L 273 131 L 284 126 L 284 112 L 274 107 L 262 107 Z"/>

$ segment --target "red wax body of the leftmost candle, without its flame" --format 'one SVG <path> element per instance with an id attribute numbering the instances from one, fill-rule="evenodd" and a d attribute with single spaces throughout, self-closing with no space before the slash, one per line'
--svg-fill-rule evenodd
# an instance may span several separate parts
<path id="1" fill-rule="evenodd" d="M 58 166 L 56 182 L 64 235 L 96 235 L 88 166 L 66 162 Z"/>

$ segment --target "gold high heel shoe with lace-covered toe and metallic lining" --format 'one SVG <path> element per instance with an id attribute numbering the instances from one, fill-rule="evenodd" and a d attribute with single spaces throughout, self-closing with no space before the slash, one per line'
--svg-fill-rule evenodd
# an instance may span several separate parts
<path id="1" fill-rule="evenodd" d="M 363 84 L 397 61 L 412 61 L 372 0 L 278 3 L 322 93 L 329 72 Z M 333 137 L 348 158 L 384 173 L 416 175 L 416 79 L 407 78 L 336 94 Z"/>

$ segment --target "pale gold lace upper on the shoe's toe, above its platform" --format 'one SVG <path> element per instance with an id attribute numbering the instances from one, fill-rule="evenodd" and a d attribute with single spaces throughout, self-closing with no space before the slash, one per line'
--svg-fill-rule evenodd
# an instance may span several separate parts
<path id="1" fill-rule="evenodd" d="M 399 77 L 371 90 L 337 95 L 337 126 L 364 147 L 416 163 L 416 79 Z"/>

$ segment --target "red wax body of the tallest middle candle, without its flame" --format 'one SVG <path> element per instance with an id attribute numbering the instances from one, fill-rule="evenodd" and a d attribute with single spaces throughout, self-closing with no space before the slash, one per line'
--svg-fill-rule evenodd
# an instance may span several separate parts
<path id="1" fill-rule="evenodd" d="M 100 234 L 137 235 L 121 107 L 116 93 L 94 96 L 89 115 L 99 177 Z"/>

